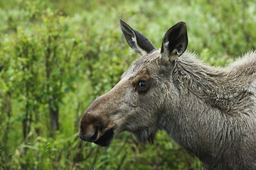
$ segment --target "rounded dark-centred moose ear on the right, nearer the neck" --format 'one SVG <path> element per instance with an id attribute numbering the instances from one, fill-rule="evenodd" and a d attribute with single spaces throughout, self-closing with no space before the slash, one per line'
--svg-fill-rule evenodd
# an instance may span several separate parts
<path id="1" fill-rule="evenodd" d="M 186 47 L 188 47 L 186 23 L 176 23 L 164 35 L 161 46 L 161 58 L 173 62 L 185 52 Z"/>

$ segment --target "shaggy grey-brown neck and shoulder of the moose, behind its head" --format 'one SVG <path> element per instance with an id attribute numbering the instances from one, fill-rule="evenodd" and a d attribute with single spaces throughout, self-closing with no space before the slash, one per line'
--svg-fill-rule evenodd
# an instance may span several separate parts
<path id="1" fill-rule="evenodd" d="M 255 169 L 255 53 L 215 68 L 186 52 L 171 79 L 160 128 L 208 169 Z"/>

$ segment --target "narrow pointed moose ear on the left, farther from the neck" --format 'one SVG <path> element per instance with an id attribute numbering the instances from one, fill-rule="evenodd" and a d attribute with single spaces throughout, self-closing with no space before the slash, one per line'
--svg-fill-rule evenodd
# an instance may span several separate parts
<path id="1" fill-rule="evenodd" d="M 124 34 L 124 38 L 137 55 L 143 56 L 156 50 L 156 47 L 154 47 L 152 42 L 142 35 L 142 33 L 132 29 L 127 23 L 124 23 L 122 19 L 119 19 L 119 23 Z"/>

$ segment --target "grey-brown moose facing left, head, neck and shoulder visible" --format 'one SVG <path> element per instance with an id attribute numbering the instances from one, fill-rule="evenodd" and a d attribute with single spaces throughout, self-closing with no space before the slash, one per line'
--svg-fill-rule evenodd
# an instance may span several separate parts
<path id="1" fill-rule="evenodd" d="M 228 67 L 211 67 L 186 50 L 182 21 L 166 32 L 159 50 L 119 23 L 140 57 L 85 110 L 80 139 L 106 147 L 126 130 L 153 143 L 165 130 L 206 169 L 256 169 L 256 52 Z"/>

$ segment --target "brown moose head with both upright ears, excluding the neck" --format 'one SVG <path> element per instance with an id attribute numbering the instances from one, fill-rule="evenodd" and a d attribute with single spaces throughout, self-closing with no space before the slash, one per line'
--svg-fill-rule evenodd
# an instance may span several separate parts
<path id="1" fill-rule="evenodd" d="M 140 58 L 113 89 L 92 101 L 80 120 L 80 139 L 103 147 L 124 130 L 132 132 L 140 142 L 153 142 L 163 126 L 161 119 L 174 88 L 171 72 L 188 45 L 183 22 L 166 32 L 161 50 L 121 19 L 119 23 L 124 38 Z"/>

